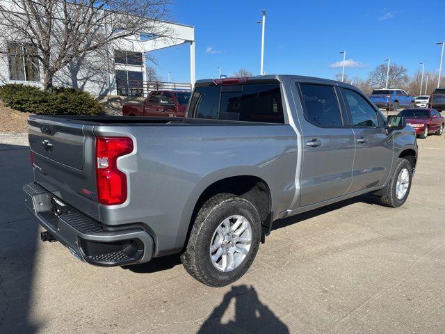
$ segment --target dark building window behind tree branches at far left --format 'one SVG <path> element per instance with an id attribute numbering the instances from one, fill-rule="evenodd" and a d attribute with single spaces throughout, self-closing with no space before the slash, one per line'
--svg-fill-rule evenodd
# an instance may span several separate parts
<path id="1" fill-rule="evenodd" d="M 37 48 L 33 45 L 8 44 L 9 79 L 40 81 Z"/>

